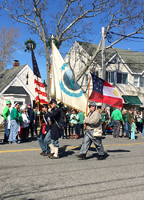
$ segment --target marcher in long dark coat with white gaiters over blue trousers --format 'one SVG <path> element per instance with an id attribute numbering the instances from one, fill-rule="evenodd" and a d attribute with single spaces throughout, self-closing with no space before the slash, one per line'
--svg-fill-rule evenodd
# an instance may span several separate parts
<path id="1" fill-rule="evenodd" d="M 46 115 L 51 120 L 51 131 L 46 134 L 45 142 L 49 145 L 51 153 L 48 155 L 51 159 L 57 159 L 58 156 L 58 148 L 59 148 L 59 141 L 58 139 L 61 137 L 60 135 L 60 116 L 61 116 L 61 109 L 57 107 L 57 101 L 52 99 L 50 101 L 51 111 L 48 112 Z M 53 144 L 51 142 L 53 140 Z"/>

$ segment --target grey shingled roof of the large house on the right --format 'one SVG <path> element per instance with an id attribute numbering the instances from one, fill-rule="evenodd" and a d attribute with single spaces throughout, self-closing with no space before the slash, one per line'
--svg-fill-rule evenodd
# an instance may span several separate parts
<path id="1" fill-rule="evenodd" d="M 79 41 L 76 42 L 89 54 L 89 56 L 93 56 L 98 47 L 98 45 L 92 43 Z M 125 64 L 130 68 L 133 73 L 142 73 L 144 71 L 144 53 L 119 48 L 110 48 L 106 50 L 106 63 L 116 53 L 121 56 Z M 101 52 L 99 52 L 95 59 L 95 62 L 101 66 L 101 61 Z"/>

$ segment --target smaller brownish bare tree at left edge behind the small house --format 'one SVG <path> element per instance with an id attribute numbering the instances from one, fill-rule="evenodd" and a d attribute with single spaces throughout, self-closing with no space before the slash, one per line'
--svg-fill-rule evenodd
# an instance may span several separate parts
<path id="1" fill-rule="evenodd" d="M 13 53 L 17 49 L 19 29 L 3 27 L 0 32 L 0 71 L 6 69 L 8 63 L 13 59 Z"/>

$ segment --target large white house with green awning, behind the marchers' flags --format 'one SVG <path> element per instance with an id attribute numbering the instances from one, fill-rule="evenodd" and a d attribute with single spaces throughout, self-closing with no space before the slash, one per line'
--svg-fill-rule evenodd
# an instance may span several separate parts
<path id="1" fill-rule="evenodd" d="M 65 57 L 75 77 L 91 59 L 97 45 L 75 41 Z M 101 52 L 90 66 L 92 73 L 102 75 Z M 84 92 L 88 88 L 89 70 L 79 80 Z M 106 80 L 111 83 L 123 97 L 124 106 L 144 107 L 144 53 L 110 48 L 106 50 Z"/>

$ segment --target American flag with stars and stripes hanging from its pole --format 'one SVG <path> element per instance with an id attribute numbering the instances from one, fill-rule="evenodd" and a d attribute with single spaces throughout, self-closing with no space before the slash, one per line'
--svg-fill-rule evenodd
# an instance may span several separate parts
<path id="1" fill-rule="evenodd" d="M 35 93 L 36 93 L 35 101 L 36 103 L 40 103 L 40 104 L 49 104 L 47 100 L 47 94 L 45 92 L 45 87 L 41 79 L 41 75 L 39 72 L 39 68 L 38 68 L 37 61 L 36 61 L 32 47 L 31 47 L 31 52 L 32 52 L 34 84 L 35 84 Z"/>

